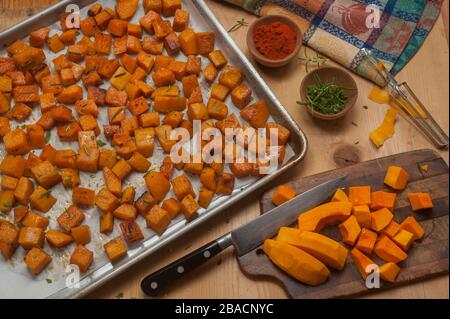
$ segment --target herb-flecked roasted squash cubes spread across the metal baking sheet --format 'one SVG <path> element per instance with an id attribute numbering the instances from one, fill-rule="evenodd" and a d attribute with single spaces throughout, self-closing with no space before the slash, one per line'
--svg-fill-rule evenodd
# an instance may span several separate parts
<path id="1" fill-rule="evenodd" d="M 131 23 L 140 5 L 145 15 Z M 93 251 L 83 208 L 96 206 L 101 233 L 110 234 L 120 221 L 122 236 L 104 245 L 115 262 L 144 238 L 139 215 L 161 235 L 180 213 L 191 220 L 215 194 L 231 194 L 235 177 L 259 174 L 248 162 L 230 164 L 229 172 L 222 163 L 173 163 L 167 154 L 177 142 L 171 132 L 182 127 L 192 137 L 193 120 L 222 134 L 226 128 L 279 128 L 283 161 L 289 131 L 267 122 L 266 103 L 252 102 L 242 71 L 215 49 L 214 32 L 189 27 L 181 0 L 118 0 L 114 9 L 96 3 L 79 29 L 70 28 L 65 16 L 60 22 L 62 32 L 33 31 L 28 43 L 17 40 L 6 48 L 9 56 L 0 57 L 0 136 L 7 151 L 0 161 L 0 251 L 6 259 L 21 246 L 28 268 L 38 274 L 52 260 L 45 241 L 55 248 L 75 242 L 70 263 L 88 270 Z M 57 57 L 46 61 L 45 50 Z M 210 85 L 206 104 L 201 81 Z M 248 124 L 241 126 L 230 107 Z M 33 108 L 40 118 L 30 123 Z M 99 124 L 102 112 L 109 123 Z M 78 142 L 78 149 L 55 149 L 47 138 L 52 129 L 61 142 Z M 167 154 L 161 163 L 150 161 L 155 150 Z M 181 174 L 173 177 L 175 169 Z M 80 185 L 80 172 L 102 172 L 105 186 Z M 123 187 L 132 172 L 142 173 L 148 188 L 137 200 L 133 186 Z M 198 191 L 190 178 L 200 180 Z M 58 200 L 51 191 L 59 183 L 72 192 L 72 204 L 48 229 L 44 214 Z M 175 196 L 166 198 L 171 189 Z"/>

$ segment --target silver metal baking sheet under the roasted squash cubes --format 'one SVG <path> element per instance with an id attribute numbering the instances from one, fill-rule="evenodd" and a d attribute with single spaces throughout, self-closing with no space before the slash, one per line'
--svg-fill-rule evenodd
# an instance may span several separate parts
<path id="1" fill-rule="evenodd" d="M 42 11 L 36 16 L 33 16 L 30 19 L 2 32 L 0 34 L 0 47 L 2 48 L 2 50 L 0 51 L 0 56 L 6 56 L 4 48 L 7 45 L 12 43 L 16 39 L 27 37 L 29 32 L 32 30 L 44 26 L 50 26 L 50 36 L 55 32 L 60 32 L 61 30 L 58 18 L 65 13 L 68 4 L 77 4 L 81 8 L 80 14 L 83 18 L 87 15 L 88 5 L 93 2 L 95 1 L 61 1 L 58 4 Z M 101 0 L 98 2 L 102 3 L 105 7 L 114 8 L 116 1 Z M 307 150 L 307 140 L 305 135 L 293 121 L 290 115 L 286 112 L 275 95 L 271 92 L 270 88 L 258 75 L 252 64 L 247 60 L 245 55 L 240 51 L 240 49 L 237 47 L 228 33 L 224 30 L 213 13 L 209 10 L 205 1 L 183 1 L 183 7 L 190 12 L 190 24 L 195 30 L 214 31 L 216 33 L 216 47 L 218 49 L 221 49 L 225 53 L 229 60 L 229 64 L 240 67 L 243 70 L 246 82 L 253 90 L 253 100 L 264 99 L 268 102 L 271 111 L 270 120 L 285 125 L 290 129 L 291 138 L 287 147 L 285 163 L 283 163 L 283 165 L 277 171 L 262 178 L 237 179 L 235 190 L 232 195 L 220 197 L 216 196 L 208 209 L 201 209 L 199 211 L 199 216 L 191 222 L 187 222 L 182 216 L 179 216 L 177 219 L 172 221 L 168 230 L 162 236 L 157 236 L 154 232 L 147 229 L 145 226 L 145 221 L 142 218 L 138 218 L 138 223 L 140 224 L 144 232 L 145 239 L 135 245 L 130 246 L 127 256 L 114 265 L 109 263 L 109 261 L 107 260 L 103 252 L 103 244 L 109 241 L 111 238 L 120 235 L 118 227 L 119 221 L 116 221 L 115 231 L 112 234 L 110 234 L 109 236 L 103 235 L 98 231 L 98 218 L 100 213 L 96 208 L 85 209 L 85 222 L 91 227 L 92 231 L 92 242 L 87 245 L 87 247 L 94 251 L 94 263 L 90 267 L 90 270 L 82 276 L 78 287 L 67 288 L 66 286 L 66 282 L 71 283 L 71 273 L 68 272 L 68 269 L 66 267 L 68 265 L 70 253 L 73 250 L 73 246 L 66 247 L 65 249 L 53 249 L 47 247 L 46 244 L 45 250 L 52 255 L 53 262 L 45 271 L 43 271 L 38 276 L 31 275 L 26 269 L 26 266 L 23 263 L 24 251 L 19 247 L 11 260 L 0 261 L 0 282 L 14 283 L 13 285 L 0 285 L 0 298 L 82 297 L 87 293 L 93 291 L 94 289 L 100 287 L 109 279 L 119 275 L 121 272 L 125 271 L 133 264 L 153 254 L 164 245 L 177 240 L 180 235 L 189 232 L 195 227 L 198 227 L 207 219 L 219 214 L 226 207 L 238 202 L 249 193 L 261 188 L 264 184 L 267 184 L 282 172 L 298 164 L 305 156 Z M 144 11 L 140 2 L 139 9 L 132 19 L 132 22 L 137 23 L 139 18 L 143 14 Z M 51 61 L 58 55 L 53 54 L 49 50 L 46 50 L 45 53 L 47 56 L 47 61 Z M 61 54 L 61 52 L 59 54 Z M 180 54 L 176 58 L 180 60 L 185 59 L 184 55 L 182 54 Z M 205 63 L 207 63 L 206 60 L 207 59 L 204 58 L 202 59 L 203 67 L 205 66 Z M 147 78 L 147 81 L 151 83 L 150 77 Z M 108 86 L 109 82 L 102 87 L 107 88 Z M 208 94 L 206 94 L 206 92 L 207 90 L 209 90 L 209 85 L 204 80 L 202 80 L 201 86 L 204 91 L 203 96 L 207 97 Z M 229 97 L 226 100 L 226 103 L 229 106 L 230 112 L 238 113 L 239 110 L 234 108 Z M 26 123 L 35 122 L 39 118 L 38 112 L 38 110 L 35 110 L 33 115 L 27 120 Z M 100 108 L 98 121 L 100 125 L 107 122 L 106 107 Z M 18 123 L 17 126 L 23 124 L 24 123 Z M 104 137 L 102 137 L 102 135 L 100 135 L 99 138 L 106 140 Z M 51 144 L 58 149 L 77 148 L 76 143 L 59 141 L 54 130 L 52 132 L 52 138 L 50 141 Z M 39 151 L 37 151 L 36 154 L 39 154 Z M 0 158 L 3 158 L 4 156 L 4 145 L 1 144 Z M 162 158 L 162 152 L 155 150 L 155 155 L 152 156 L 151 162 L 153 164 L 158 164 L 162 161 Z M 101 173 L 80 173 L 80 177 L 81 186 L 98 190 L 104 185 Z M 190 179 L 193 182 L 194 188 L 198 189 L 198 187 L 196 187 L 199 186 L 198 179 L 193 176 L 190 176 Z M 142 174 L 139 173 L 131 174 L 127 178 L 125 185 L 133 185 L 136 188 L 136 197 L 140 196 L 140 194 L 146 191 Z M 50 217 L 49 227 L 57 228 L 56 217 L 65 207 L 70 204 L 71 192 L 64 190 L 62 185 L 57 185 L 52 189 L 52 193 L 57 195 L 56 197 L 58 198 L 58 202 L 46 215 Z M 173 194 L 168 194 L 168 196 L 171 195 Z"/>

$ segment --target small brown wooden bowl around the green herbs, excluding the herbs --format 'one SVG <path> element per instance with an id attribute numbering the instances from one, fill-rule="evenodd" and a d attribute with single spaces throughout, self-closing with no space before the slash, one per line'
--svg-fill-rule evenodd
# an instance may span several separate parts
<path id="1" fill-rule="evenodd" d="M 356 85 L 353 77 L 346 71 L 335 68 L 335 67 L 322 67 L 311 71 L 306 75 L 303 79 L 302 84 L 300 85 L 300 96 L 302 101 L 306 101 L 307 88 L 310 85 L 317 84 L 316 75 L 326 83 L 332 83 L 335 80 L 336 84 L 349 88 L 350 90 L 344 90 L 345 95 L 347 96 L 347 103 L 345 104 L 344 109 L 336 114 L 328 115 L 323 114 L 317 111 L 314 111 L 311 107 L 306 106 L 308 112 L 315 118 L 332 121 L 337 120 L 343 116 L 345 116 L 350 110 L 355 106 L 356 100 L 358 99 L 358 86 Z"/>

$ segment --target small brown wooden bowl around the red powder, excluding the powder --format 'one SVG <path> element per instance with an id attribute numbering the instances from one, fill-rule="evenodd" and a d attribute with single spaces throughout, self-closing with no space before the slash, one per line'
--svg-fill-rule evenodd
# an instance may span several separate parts
<path id="1" fill-rule="evenodd" d="M 262 55 L 256 49 L 255 42 L 253 41 L 253 33 L 255 30 L 255 27 L 259 26 L 261 24 L 268 24 L 273 21 L 280 21 L 280 22 L 286 23 L 287 25 L 289 25 L 292 28 L 292 30 L 294 30 L 295 34 L 297 35 L 297 45 L 296 45 L 294 51 L 292 51 L 292 53 L 289 54 L 284 59 L 280 59 L 280 60 L 271 60 L 271 59 L 266 58 L 264 55 Z M 302 46 L 302 41 L 303 41 L 303 33 L 300 30 L 300 28 L 298 27 L 298 25 L 294 21 L 292 21 L 290 18 L 288 18 L 286 16 L 282 16 L 282 15 L 268 15 L 268 16 L 259 18 L 258 20 L 256 20 L 255 22 L 253 22 L 250 25 L 250 27 L 248 28 L 248 31 L 247 31 L 247 47 L 248 47 L 248 50 L 250 51 L 250 54 L 255 58 L 255 60 L 257 62 L 261 63 L 262 65 L 271 67 L 271 68 L 277 68 L 277 67 L 286 65 L 289 62 L 291 62 L 293 59 L 295 59 L 295 57 L 298 54 L 298 51 L 300 50 L 300 48 Z"/>

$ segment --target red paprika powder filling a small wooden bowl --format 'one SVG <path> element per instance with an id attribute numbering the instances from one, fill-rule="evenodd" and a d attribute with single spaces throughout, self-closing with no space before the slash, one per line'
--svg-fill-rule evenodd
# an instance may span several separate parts
<path id="1" fill-rule="evenodd" d="M 297 46 L 297 34 L 286 23 L 273 21 L 255 27 L 253 41 L 256 49 L 264 57 L 281 60 L 294 52 Z"/>

